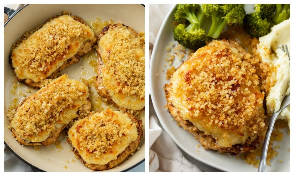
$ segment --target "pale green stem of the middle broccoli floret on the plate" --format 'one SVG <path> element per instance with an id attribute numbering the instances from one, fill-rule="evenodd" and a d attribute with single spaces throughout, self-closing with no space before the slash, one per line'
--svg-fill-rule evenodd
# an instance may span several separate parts
<path id="1" fill-rule="evenodd" d="M 221 16 L 212 15 L 212 25 L 207 35 L 211 38 L 218 38 L 223 28 L 228 24 L 227 20 L 221 19 Z"/>

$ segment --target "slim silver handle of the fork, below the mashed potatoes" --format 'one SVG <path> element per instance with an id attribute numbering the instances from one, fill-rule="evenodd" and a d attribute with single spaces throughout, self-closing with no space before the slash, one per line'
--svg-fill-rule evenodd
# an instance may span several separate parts
<path id="1" fill-rule="evenodd" d="M 273 113 L 270 118 L 270 122 L 268 124 L 268 130 L 266 131 L 264 143 L 263 143 L 263 150 L 260 156 L 260 162 L 258 167 L 258 172 L 264 172 L 265 170 L 265 163 L 266 163 L 266 155 L 268 153 L 268 144 L 270 143 L 270 136 L 273 132 L 273 126 L 275 125 L 275 121 L 280 114 L 280 111 Z"/>

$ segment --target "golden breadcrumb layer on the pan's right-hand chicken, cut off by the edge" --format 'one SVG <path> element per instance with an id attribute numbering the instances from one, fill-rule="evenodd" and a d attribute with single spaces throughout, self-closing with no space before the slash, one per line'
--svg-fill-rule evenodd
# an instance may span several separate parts
<path id="1" fill-rule="evenodd" d="M 116 92 L 145 97 L 145 52 L 140 43 L 145 42 L 145 34 L 138 37 L 126 26 L 109 30 L 100 43 L 109 43 L 107 57 L 102 57 L 105 68 L 103 76 L 115 80 Z"/>

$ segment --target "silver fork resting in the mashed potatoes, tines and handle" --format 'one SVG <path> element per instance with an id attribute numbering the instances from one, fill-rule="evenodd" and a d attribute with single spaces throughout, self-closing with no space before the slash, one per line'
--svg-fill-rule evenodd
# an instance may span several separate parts
<path id="1" fill-rule="evenodd" d="M 282 50 L 284 52 L 286 52 L 286 54 L 288 55 L 288 57 L 290 59 L 288 46 L 286 45 L 284 47 L 284 45 L 282 45 Z M 277 112 L 273 113 L 272 116 L 270 117 L 270 122 L 268 124 L 268 130 L 267 130 L 266 135 L 265 135 L 265 139 L 264 139 L 264 143 L 263 143 L 263 149 L 262 149 L 261 156 L 260 156 L 258 172 L 264 172 L 265 171 L 266 155 L 268 153 L 268 144 L 270 142 L 270 136 L 272 134 L 275 121 L 276 121 L 278 115 L 280 114 L 280 112 L 283 109 L 285 109 L 289 104 L 290 104 L 290 94 L 284 97 L 284 99 L 283 99 L 283 101 L 281 103 L 280 109 Z"/>

